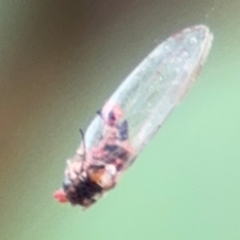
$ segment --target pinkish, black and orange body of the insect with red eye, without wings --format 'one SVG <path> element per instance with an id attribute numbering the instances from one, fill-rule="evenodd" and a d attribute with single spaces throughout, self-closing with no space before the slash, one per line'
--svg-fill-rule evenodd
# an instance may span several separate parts
<path id="1" fill-rule="evenodd" d="M 101 140 L 92 149 L 86 150 L 81 145 L 73 159 L 68 161 L 63 188 L 54 193 L 60 203 L 92 205 L 104 192 L 114 188 L 132 155 L 122 109 L 106 104 L 99 116 L 104 122 Z"/>

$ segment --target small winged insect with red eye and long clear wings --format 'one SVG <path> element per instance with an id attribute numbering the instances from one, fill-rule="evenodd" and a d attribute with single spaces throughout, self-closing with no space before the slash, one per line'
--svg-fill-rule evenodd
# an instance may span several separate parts
<path id="1" fill-rule="evenodd" d="M 213 40 L 204 25 L 157 46 L 97 112 L 67 160 L 60 203 L 88 208 L 113 189 L 200 73 Z"/>

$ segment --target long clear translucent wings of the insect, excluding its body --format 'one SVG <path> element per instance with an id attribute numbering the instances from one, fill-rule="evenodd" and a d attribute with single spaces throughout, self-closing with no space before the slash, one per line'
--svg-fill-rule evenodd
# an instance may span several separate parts
<path id="1" fill-rule="evenodd" d="M 108 102 L 119 105 L 129 125 L 135 155 L 149 142 L 198 76 L 213 36 L 200 25 L 184 29 L 157 46 L 126 78 Z M 103 122 L 96 117 L 85 135 L 86 148 L 99 144 Z"/>

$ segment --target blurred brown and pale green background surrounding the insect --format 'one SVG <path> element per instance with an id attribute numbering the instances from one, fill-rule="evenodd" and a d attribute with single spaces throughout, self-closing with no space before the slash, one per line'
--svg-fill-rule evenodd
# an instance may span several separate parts
<path id="1" fill-rule="evenodd" d="M 0 1 L 0 239 L 240 239 L 240 1 Z M 161 41 L 206 24 L 198 81 L 94 207 L 52 192 L 95 111 Z"/>

